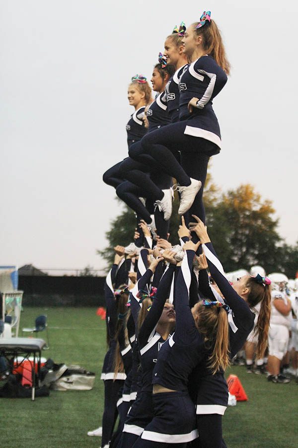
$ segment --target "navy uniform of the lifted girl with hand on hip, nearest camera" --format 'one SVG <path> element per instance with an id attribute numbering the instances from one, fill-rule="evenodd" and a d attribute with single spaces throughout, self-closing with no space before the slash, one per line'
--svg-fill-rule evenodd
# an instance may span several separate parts
<path id="1" fill-rule="evenodd" d="M 201 56 L 191 63 L 179 79 L 180 121 L 145 135 L 141 150 L 136 151 L 134 145 L 129 150 L 130 157 L 136 161 L 141 161 L 144 153 L 150 155 L 181 186 L 189 186 L 190 178 L 202 182 L 189 214 L 185 216 L 186 224 L 192 214 L 205 222 L 202 197 L 208 161 L 221 150 L 221 132 L 212 103 L 226 81 L 226 74 L 211 56 Z M 199 101 L 189 112 L 187 106 L 192 98 Z M 179 150 L 181 164 L 175 157 Z"/>

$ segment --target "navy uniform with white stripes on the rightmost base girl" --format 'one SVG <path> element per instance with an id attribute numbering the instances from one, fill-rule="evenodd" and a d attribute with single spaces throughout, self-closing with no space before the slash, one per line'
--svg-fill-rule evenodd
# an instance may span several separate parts
<path id="1" fill-rule="evenodd" d="M 229 306 L 229 350 L 230 358 L 243 346 L 248 334 L 253 328 L 254 314 L 247 303 L 235 292 L 224 275 L 223 266 L 218 259 L 211 242 L 202 244 L 212 278 L 216 281 L 224 299 L 209 285 L 207 272 L 201 272 L 199 288 L 204 296 L 225 303 Z M 213 300 L 214 300 L 213 299 Z M 198 365 L 190 380 L 192 395 L 196 400 L 197 427 L 199 431 L 200 448 L 225 447 L 222 440 L 222 416 L 227 408 L 228 389 L 224 379 L 224 372 L 218 371 L 214 375 L 208 368 Z M 196 445 L 193 445 L 195 448 Z"/>

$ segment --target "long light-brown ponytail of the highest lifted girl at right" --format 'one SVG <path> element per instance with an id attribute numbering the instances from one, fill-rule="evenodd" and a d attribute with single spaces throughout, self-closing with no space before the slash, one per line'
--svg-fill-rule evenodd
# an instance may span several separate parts
<path id="1" fill-rule="evenodd" d="M 216 63 L 222 67 L 224 72 L 229 75 L 230 63 L 227 60 L 222 35 L 216 22 L 211 20 L 210 23 L 206 23 L 201 28 L 196 28 L 198 23 L 199 22 L 193 23 L 193 26 L 195 27 L 197 36 L 202 35 L 203 37 L 204 51 L 206 54 L 212 56 Z"/>

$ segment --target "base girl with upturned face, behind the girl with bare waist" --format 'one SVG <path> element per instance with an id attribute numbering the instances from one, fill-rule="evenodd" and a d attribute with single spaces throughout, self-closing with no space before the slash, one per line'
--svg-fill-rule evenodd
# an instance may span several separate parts
<path id="1" fill-rule="evenodd" d="M 149 296 L 145 292 L 152 273 L 162 259 L 162 257 L 153 259 L 145 275 L 138 281 L 131 298 L 131 307 L 141 306 L 137 339 L 141 361 L 142 388 L 127 416 L 119 444 L 121 448 L 132 447 L 153 418 L 152 371 L 156 363 L 157 353 L 167 340 L 175 324 L 173 305 L 166 303 L 174 269 L 169 267 L 165 271 L 153 300 L 151 300 L 152 295 Z"/>

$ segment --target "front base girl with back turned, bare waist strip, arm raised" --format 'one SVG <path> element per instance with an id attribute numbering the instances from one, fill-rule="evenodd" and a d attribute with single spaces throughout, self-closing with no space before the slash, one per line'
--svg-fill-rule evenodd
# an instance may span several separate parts
<path id="1" fill-rule="evenodd" d="M 188 393 L 193 368 L 207 365 L 213 374 L 228 365 L 228 321 L 226 306 L 201 301 L 189 305 L 193 259 L 198 244 L 185 243 L 181 270 L 175 284 L 175 333 L 158 353 L 153 370 L 154 418 L 134 448 L 185 447 L 197 438 L 195 406 Z M 173 253 L 172 253 L 173 254 Z M 170 260 L 175 263 L 172 258 Z M 209 390 L 206 390 L 206 394 Z M 178 412 L 181 411 L 181 412 Z"/>

